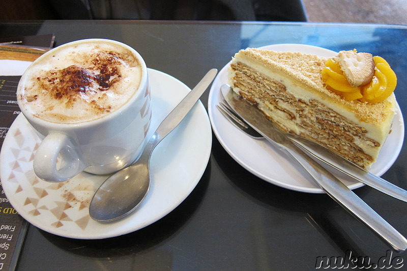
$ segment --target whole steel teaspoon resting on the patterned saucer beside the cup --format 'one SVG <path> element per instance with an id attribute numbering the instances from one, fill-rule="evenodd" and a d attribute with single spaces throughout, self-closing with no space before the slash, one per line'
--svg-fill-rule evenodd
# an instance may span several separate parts
<path id="1" fill-rule="evenodd" d="M 96 191 L 89 206 L 90 216 L 100 222 L 121 219 L 146 197 L 150 189 L 150 158 L 158 143 L 175 129 L 215 78 L 216 69 L 210 70 L 191 92 L 165 117 L 157 128 L 140 158 L 108 177 Z"/>

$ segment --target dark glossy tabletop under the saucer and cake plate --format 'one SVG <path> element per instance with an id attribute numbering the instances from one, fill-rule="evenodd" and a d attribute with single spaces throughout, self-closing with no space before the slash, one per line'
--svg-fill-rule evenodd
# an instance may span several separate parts
<path id="1" fill-rule="evenodd" d="M 0 37 L 53 33 L 55 46 L 106 38 L 135 48 L 149 68 L 193 87 L 220 70 L 239 49 L 297 43 L 384 57 L 398 75 L 395 91 L 407 110 L 407 27 L 370 24 L 15 21 Z M 209 90 L 201 101 L 208 108 Z M 407 189 L 405 144 L 383 175 Z M 354 190 L 407 236 L 407 203 L 369 187 Z M 391 254 L 391 255 L 390 255 Z M 405 259 L 326 194 L 284 189 L 256 177 L 231 158 L 213 135 L 198 185 L 171 213 L 122 236 L 82 240 L 28 227 L 17 270 L 306 270 L 321 257 L 364 257 L 370 263 Z M 385 261 L 387 260 L 387 261 Z M 390 263 L 389 263 L 390 261 Z M 393 265 L 396 261 L 393 261 Z M 406 263 L 407 264 L 407 263 Z M 365 265 L 365 267 L 367 267 Z M 394 267 L 394 266 L 393 266 Z M 401 268 L 402 269 L 402 268 Z"/>

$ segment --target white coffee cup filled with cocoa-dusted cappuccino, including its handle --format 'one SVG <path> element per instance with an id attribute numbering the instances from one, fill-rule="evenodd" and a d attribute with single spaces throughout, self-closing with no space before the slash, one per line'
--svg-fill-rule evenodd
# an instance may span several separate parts
<path id="1" fill-rule="evenodd" d="M 42 139 L 33 166 L 48 182 L 128 166 L 151 122 L 146 64 L 112 40 L 79 40 L 46 52 L 22 75 L 17 101 Z"/>

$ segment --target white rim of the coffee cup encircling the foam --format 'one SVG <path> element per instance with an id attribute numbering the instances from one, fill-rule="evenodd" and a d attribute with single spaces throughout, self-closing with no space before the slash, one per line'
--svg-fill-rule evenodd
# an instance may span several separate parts
<path id="1" fill-rule="evenodd" d="M 142 93 L 144 92 L 140 92 L 138 91 L 139 89 L 143 89 L 143 88 L 149 88 L 149 79 L 148 79 L 148 70 L 147 70 L 147 65 L 146 62 L 144 62 L 144 59 L 142 58 L 142 56 L 131 46 L 120 42 L 120 41 L 115 41 L 115 40 L 110 40 L 110 39 L 100 39 L 100 38 L 94 38 L 94 39 L 82 39 L 82 40 L 76 40 L 76 41 L 72 41 L 72 42 L 68 42 L 65 44 L 62 44 L 60 46 L 57 46 L 47 52 L 45 52 L 44 54 L 42 54 L 41 56 L 39 56 L 32 64 L 30 64 L 30 66 L 28 66 L 28 68 L 24 71 L 23 75 L 20 78 L 20 82 L 23 81 L 24 77 L 27 76 L 26 74 L 28 74 L 28 71 L 32 68 L 32 66 L 34 66 L 37 62 L 41 61 L 42 58 L 47 57 L 49 54 L 55 52 L 55 50 L 60 50 L 64 47 L 68 47 L 77 43 L 84 43 L 84 42 L 107 42 L 107 43 L 113 43 L 116 45 L 120 45 L 123 46 L 127 49 L 129 49 L 134 55 L 136 55 L 137 59 L 139 59 L 140 61 L 140 65 L 141 65 L 141 79 L 140 79 L 140 84 L 138 85 L 137 91 L 130 97 L 130 99 L 123 104 L 120 108 L 118 108 L 117 110 L 111 112 L 110 114 L 107 114 L 105 116 L 99 117 L 97 119 L 92 119 L 91 121 L 84 121 L 84 122 L 79 122 L 79 123 L 55 123 L 55 122 L 49 122 L 46 121 L 45 119 L 36 117 L 34 114 L 28 112 L 23 106 L 19 106 L 20 111 L 23 113 L 23 115 L 26 118 L 30 118 L 31 121 L 40 124 L 42 126 L 56 126 L 56 127 L 60 127 L 60 129 L 64 129 L 64 128 L 68 128 L 68 127 L 82 127 L 82 126 L 93 126 L 93 125 L 98 125 L 99 123 L 103 123 L 111 118 L 114 118 L 117 115 L 122 114 L 123 111 L 126 111 L 129 107 L 132 106 L 133 101 L 138 99 L 138 97 L 140 95 L 142 95 Z M 18 95 L 20 93 L 20 82 L 18 83 L 17 86 L 17 98 Z M 20 100 L 17 99 L 18 105 L 20 105 Z"/>

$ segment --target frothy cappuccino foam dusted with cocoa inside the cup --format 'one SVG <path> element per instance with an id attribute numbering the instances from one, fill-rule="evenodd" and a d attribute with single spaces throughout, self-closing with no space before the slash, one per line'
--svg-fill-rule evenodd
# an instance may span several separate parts
<path id="1" fill-rule="evenodd" d="M 121 108 L 137 91 L 142 68 L 128 48 L 89 41 L 56 47 L 21 78 L 17 99 L 47 122 L 93 121 Z"/>

